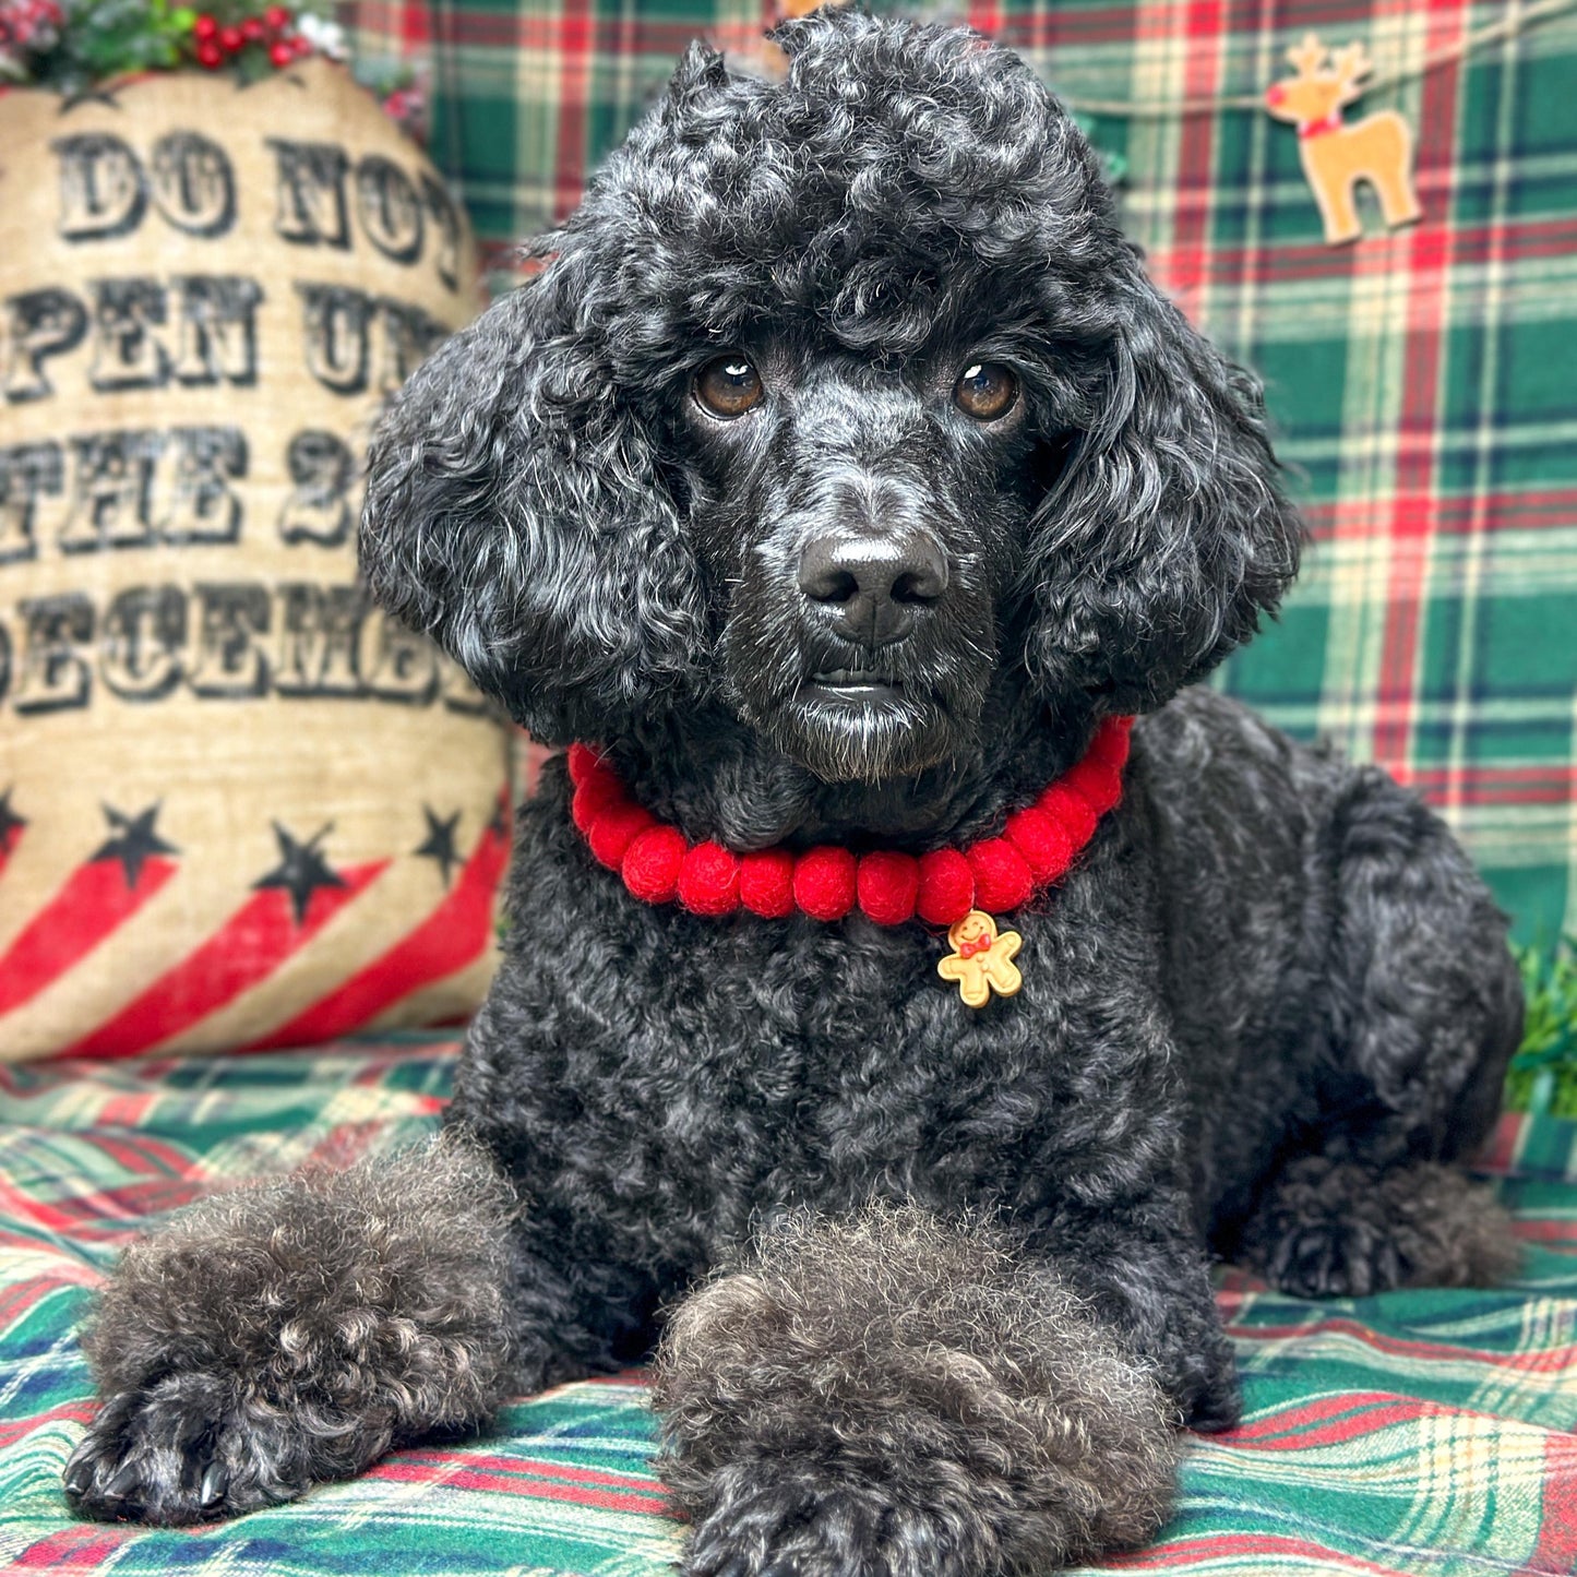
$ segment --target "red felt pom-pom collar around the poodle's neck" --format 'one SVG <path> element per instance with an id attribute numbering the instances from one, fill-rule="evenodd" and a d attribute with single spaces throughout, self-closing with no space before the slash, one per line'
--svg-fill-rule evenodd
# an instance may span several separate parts
<path id="1" fill-rule="evenodd" d="M 735 855 L 721 844 L 692 844 L 636 804 L 613 768 L 585 744 L 569 746 L 571 815 L 596 859 L 617 871 L 643 904 L 677 900 L 692 915 L 744 908 L 763 919 L 795 910 L 812 919 L 842 919 L 858 908 L 878 926 L 900 926 L 916 915 L 951 926 L 971 908 L 989 915 L 1019 908 L 1066 874 L 1101 817 L 1123 798 L 1132 725 L 1132 718 L 1107 718 L 1083 760 L 1035 804 L 1014 811 L 998 837 L 964 850 L 905 855 L 877 848 L 856 856 L 822 844 L 803 853 Z"/>

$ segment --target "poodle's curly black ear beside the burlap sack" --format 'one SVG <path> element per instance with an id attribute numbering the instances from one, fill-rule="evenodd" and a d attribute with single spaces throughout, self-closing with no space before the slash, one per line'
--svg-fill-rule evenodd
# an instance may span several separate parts
<path id="1" fill-rule="evenodd" d="M 416 371 L 374 437 L 360 531 L 377 601 L 547 741 L 604 738 L 705 639 L 695 560 L 577 322 L 576 273 L 557 259 Z"/>

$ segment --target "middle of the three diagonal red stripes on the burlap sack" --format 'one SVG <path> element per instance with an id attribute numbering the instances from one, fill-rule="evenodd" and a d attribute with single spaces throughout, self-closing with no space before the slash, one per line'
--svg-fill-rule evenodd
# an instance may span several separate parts
<path id="1" fill-rule="evenodd" d="M 262 888 L 196 951 L 60 1055 L 134 1057 L 189 1030 L 268 979 L 388 866 L 388 859 L 347 866 L 341 872 L 345 885 L 315 888 L 300 923 L 284 888 Z"/>

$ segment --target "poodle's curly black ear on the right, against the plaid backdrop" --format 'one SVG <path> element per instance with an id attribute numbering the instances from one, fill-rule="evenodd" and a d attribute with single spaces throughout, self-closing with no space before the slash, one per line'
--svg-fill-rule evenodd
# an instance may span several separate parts
<path id="1" fill-rule="evenodd" d="M 1303 527 L 1258 385 L 1121 257 L 1105 405 L 1031 528 L 1025 659 L 1047 697 L 1145 711 L 1274 612 Z"/>

